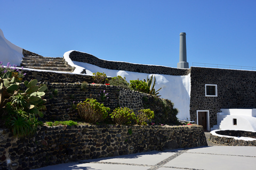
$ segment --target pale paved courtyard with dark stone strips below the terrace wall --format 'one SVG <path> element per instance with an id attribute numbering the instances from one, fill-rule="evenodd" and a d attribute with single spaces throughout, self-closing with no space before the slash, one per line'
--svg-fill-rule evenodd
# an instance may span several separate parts
<path id="1" fill-rule="evenodd" d="M 210 146 L 83 160 L 47 166 L 38 170 L 236 170 L 256 169 L 255 167 L 256 147 Z"/>

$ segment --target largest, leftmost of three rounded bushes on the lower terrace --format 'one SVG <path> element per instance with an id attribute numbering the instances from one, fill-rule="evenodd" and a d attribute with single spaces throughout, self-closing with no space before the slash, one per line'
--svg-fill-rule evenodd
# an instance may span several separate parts
<path id="1" fill-rule="evenodd" d="M 109 107 L 98 103 L 96 99 L 86 99 L 83 103 L 77 104 L 76 108 L 82 120 L 88 123 L 96 123 L 105 120 L 110 111 Z"/>

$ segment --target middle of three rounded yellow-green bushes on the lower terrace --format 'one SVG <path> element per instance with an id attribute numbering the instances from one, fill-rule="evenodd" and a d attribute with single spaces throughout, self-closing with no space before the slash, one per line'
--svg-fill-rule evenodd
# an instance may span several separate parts
<path id="1" fill-rule="evenodd" d="M 127 107 L 115 108 L 113 113 L 109 115 L 116 124 L 130 125 L 135 120 L 134 112 Z"/>

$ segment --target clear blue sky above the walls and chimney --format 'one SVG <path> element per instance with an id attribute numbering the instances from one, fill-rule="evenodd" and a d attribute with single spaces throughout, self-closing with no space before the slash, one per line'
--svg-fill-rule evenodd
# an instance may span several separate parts
<path id="1" fill-rule="evenodd" d="M 79 50 L 172 67 L 186 32 L 190 66 L 256 66 L 255 0 L 0 0 L 0 28 L 13 44 L 43 56 Z"/>

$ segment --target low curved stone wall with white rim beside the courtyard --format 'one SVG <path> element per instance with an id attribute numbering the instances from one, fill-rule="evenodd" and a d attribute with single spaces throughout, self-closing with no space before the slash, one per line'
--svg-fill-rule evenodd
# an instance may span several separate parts
<path id="1" fill-rule="evenodd" d="M 249 137 L 256 139 L 256 132 L 248 132 L 248 131 L 216 131 L 215 133 L 221 135 L 228 135 L 229 137 L 218 137 L 217 135 L 210 134 L 210 140 L 214 143 L 219 143 L 221 145 L 227 146 L 256 146 L 256 140 L 254 141 L 245 141 L 245 140 L 236 140 L 232 137 Z"/>

